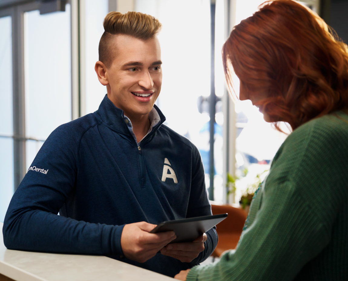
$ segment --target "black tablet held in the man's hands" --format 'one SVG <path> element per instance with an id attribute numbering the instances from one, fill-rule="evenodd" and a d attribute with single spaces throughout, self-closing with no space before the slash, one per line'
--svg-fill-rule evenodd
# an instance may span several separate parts
<path id="1" fill-rule="evenodd" d="M 216 214 L 188 219 L 167 220 L 160 223 L 150 233 L 174 231 L 176 239 L 171 243 L 192 242 L 213 226 L 226 219 L 228 214 Z"/>

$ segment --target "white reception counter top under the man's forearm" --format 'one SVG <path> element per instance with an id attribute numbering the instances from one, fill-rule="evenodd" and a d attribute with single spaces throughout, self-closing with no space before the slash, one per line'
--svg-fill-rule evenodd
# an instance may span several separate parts
<path id="1" fill-rule="evenodd" d="M 104 256 L 8 250 L 2 226 L 0 223 L 0 274 L 16 281 L 174 280 Z"/>

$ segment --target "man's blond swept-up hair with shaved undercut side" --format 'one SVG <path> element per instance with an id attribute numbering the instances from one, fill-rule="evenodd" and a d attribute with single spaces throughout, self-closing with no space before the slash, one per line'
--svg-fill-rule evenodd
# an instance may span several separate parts
<path id="1" fill-rule="evenodd" d="M 162 25 L 157 18 L 129 11 L 126 14 L 110 12 L 104 18 L 104 33 L 99 41 L 99 60 L 109 67 L 114 59 L 115 50 L 112 41 L 115 35 L 124 34 L 146 41 L 156 38 Z"/>

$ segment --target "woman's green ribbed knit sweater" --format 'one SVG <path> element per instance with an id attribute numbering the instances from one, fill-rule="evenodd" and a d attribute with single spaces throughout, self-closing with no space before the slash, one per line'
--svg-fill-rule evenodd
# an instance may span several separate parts
<path id="1" fill-rule="evenodd" d="M 348 280 L 347 202 L 348 116 L 338 112 L 287 137 L 237 249 L 193 267 L 187 281 Z"/>

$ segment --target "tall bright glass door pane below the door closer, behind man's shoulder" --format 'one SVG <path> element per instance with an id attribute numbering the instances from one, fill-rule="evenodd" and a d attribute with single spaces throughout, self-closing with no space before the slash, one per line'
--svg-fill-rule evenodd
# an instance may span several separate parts
<path id="1" fill-rule="evenodd" d="M 71 121 L 70 18 L 70 4 L 23 14 L 26 170 L 49 134 Z"/>

